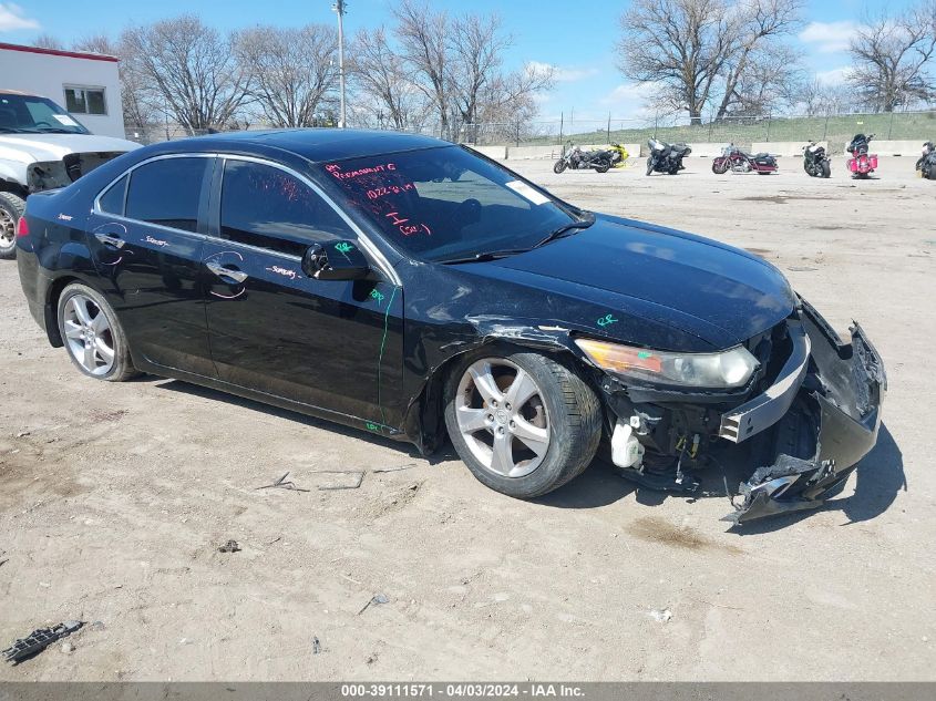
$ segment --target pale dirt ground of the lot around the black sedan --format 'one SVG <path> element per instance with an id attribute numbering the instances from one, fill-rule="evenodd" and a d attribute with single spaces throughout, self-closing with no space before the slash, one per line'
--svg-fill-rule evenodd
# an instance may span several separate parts
<path id="1" fill-rule="evenodd" d="M 936 679 L 936 183 L 906 157 L 870 182 L 842 159 L 829 181 L 789 158 L 770 177 L 511 165 L 743 246 L 840 331 L 862 321 L 891 390 L 841 496 L 733 533 L 723 497 L 635 491 L 596 463 L 514 501 L 451 449 L 423 460 L 181 382 L 84 379 L 0 261 L 0 647 L 89 622 L 0 679 Z M 353 470 L 360 488 L 317 488 Z M 311 491 L 255 488 L 286 471 Z"/>

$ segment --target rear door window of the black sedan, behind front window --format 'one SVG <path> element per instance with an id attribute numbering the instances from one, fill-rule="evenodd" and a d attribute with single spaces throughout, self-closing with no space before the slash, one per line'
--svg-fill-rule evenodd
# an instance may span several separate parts
<path id="1" fill-rule="evenodd" d="M 197 230 L 202 185 L 210 162 L 163 158 L 140 166 L 130 177 L 124 216 L 183 231 Z"/>

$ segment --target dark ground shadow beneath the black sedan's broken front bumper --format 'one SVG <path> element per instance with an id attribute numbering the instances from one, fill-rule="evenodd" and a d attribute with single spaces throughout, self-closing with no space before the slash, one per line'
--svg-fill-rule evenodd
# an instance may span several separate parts
<path id="1" fill-rule="evenodd" d="M 702 483 L 697 495 L 683 496 L 641 487 L 618 475 L 609 463 L 596 460 L 582 476 L 535 501 L 557 508 L 597 508 L 613 504 L 629 494 L 634 494 L 637 503 L 645 506 L 657 506 L 667 498 L 683 499 L 689 505 L 697 499 L 716 498 L 724 502 L 726 514 L 729 514 L 732 506 L 724 493 L 726 482 L 734 491 L 741 480 L 749 476 L 753 468 L 744 465 L 743 461 L 740 461 L 740 464 L 727 466 L 722 471 L 712 468 L 708 471 L 708 474 L 701 475 Z M 757 535 L 779 530 L 803 518 L 809 518 L 816 511 L 842 512 L 848 519 L 843 525 L 871 520 L 883 514 L 897 498 L 898 492 L 907 491 L 903 454 L 887 426 L 882 424 L 877 444 L 858 463 L 854 480 L 855 491 L 848 497 L 835 498 L 833 495 L 817 509 L 734 526 L 731 533 Z"/>

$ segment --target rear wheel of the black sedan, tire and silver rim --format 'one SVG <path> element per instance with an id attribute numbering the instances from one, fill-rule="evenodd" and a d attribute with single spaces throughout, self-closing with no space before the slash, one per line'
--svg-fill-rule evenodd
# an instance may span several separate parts
<path id="1" fill-rule="evenodd" d="M 59 297 L 59 333 L 69 358 L 82 373 L 105 382 L 123 382 L 137 374 L 126 336 L 107 300 L 74 282 Z"/>

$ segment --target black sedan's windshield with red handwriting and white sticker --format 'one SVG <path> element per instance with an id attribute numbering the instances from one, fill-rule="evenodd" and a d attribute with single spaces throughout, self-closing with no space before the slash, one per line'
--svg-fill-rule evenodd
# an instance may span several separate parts
<path id="1" fill-rule="evenodd" d="M 423 260 L 528 249 L 576 221 L 510 171 L 459 146 L 349 158 L 322 167 L 354 210 Z"/>

